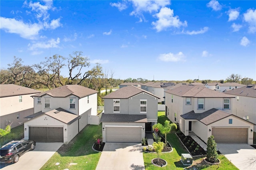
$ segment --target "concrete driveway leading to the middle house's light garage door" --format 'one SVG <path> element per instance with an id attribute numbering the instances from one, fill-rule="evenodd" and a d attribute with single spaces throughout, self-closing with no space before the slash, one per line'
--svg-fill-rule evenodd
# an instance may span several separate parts
<path id="1" fill-rule="evenodd" d="M 144 170 L 141 143 L 106 142 L 96 170 Z"/>

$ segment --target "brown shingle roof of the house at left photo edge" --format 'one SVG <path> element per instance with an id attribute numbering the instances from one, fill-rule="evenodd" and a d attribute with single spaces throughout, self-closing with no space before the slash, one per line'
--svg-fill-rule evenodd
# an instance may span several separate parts
<path id="1" fill-rule="evenodd" d="M 35 93 L 41 93 L 41 91 L 14 84 L 0 84 L 0 97 L 29 95 Z"/>

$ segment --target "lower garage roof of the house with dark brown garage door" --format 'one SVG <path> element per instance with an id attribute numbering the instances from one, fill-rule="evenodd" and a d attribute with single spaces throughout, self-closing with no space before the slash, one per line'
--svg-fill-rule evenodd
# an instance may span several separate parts
<path id="1" fill-rule="evenodd" d="M 61 121 L 63 123 L 66 123 L 67 125 L 70 125 L 72 124 L 74 121 L 76 121 L 77 119 L 80 119 L 81 116 L 78 116 L 78 115 L 75 115 L 69 111 L 66 111 L 62 108 L 58 108 L 58 109 L 53 109 L 51 111 L 48 111 L 48 112 L 45 112 L 45 113 L 42 113 L 42 112 L 38 112 L 38 113 L 35 113 L 33 115 L 29 115 L 25 118 L 28 118 L 28 119 L 34 119 L 40 115 L 48 115 L 58 121 Z"/>

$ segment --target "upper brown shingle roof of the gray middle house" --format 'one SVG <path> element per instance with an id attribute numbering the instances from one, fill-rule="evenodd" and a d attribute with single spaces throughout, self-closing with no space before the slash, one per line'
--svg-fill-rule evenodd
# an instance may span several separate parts
<path id="1" fill-rule="evenodd" d="M 114 92 L 110 93 L 109 95 L 106 95 L 102 98 L 103 99 L 129 99 L 130 97 L 133 97 L 140 93 L 147 93 L 149 95 L 152 95 L 152 96 L 160 99 L 156 95 L 154 95 L 146 90 L 143 90 L 141 88 L 135 87 L 133 85 L 128 85 L 126 87 L 122 87 L 121 89 L 118 89 L 117 91 L 114 91 Z"/>

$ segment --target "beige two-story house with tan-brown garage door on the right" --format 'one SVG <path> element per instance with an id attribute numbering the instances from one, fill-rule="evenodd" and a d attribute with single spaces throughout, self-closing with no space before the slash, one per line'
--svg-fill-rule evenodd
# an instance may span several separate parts
<path id="1" fill-rule="evenodd" d="M 167 117 L 187 136 L 194 132 L 204 142 L 253 143 L 253 123 L 233 115 L 232 95 L 198 85 L 165 91 Z"/>

